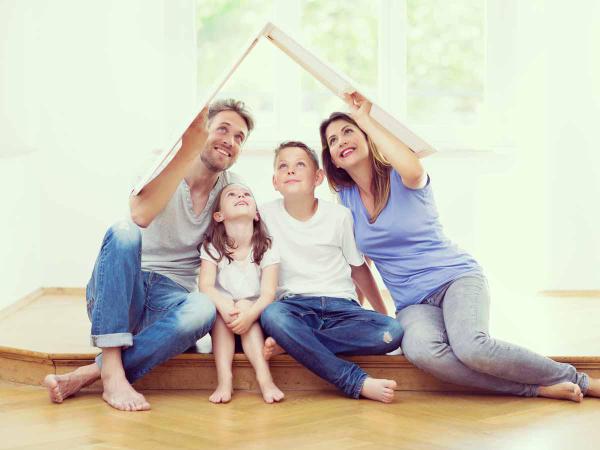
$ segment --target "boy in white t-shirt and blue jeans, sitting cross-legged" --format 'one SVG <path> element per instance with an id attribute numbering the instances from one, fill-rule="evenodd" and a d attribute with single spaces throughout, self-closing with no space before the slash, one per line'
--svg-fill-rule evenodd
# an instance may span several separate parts
<path id="1" fill-rule="evenodd" d="M 371 378 L 336 356 L 390 352 L 400 345 L 402 329 L 385 315 L 356 248 L 350 211 L 315 198 L 323 178 L 316 153 L 302 142 L 284 142 L 275 150 L 273 185 L 283 199 L 260 208 L 281 257 L 278 301 L 261 316 L 271 336 L 265 357 L 283 349 L 349 397 L 390 403 L 395 381 Z M 353 279 L 383 314 L 360 306 Z"/>

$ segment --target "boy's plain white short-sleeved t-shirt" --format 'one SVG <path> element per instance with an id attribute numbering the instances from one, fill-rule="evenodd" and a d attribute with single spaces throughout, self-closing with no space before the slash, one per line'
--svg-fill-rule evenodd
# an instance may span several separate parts
<path id="1" fill-rule="evenodd" d="M 364 258 L 356 247 L 348 208 L 319 199 L 313 217 L 302 222 L 278 199 L 259 212 L 279 251 L 277 299 L 294 294 L 357 298 L 350 265 L 360 266 Z"/>

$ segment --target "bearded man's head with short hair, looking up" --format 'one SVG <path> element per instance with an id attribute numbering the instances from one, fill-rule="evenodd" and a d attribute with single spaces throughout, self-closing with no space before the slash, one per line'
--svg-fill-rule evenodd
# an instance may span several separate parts
<path id="1" fill-rule="evenodd" d="M 219 100 L 208 109 L 208 138 L 200 155 L 210 170 L 221 172 L 237 160 L 242 144 L 254 128 L 243 102 Z"/>

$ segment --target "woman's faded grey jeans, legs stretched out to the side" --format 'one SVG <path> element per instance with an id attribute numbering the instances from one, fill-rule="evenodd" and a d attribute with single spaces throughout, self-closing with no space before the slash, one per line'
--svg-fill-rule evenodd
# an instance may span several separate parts
<path id="1" fill-rule="evenodd" d="M 415 366 L 454 384 L 536 396 L 539 386 L 570 381 L 585 394 L 589 378 L 489 335 L 489 292 L 483 275 L 465 276 L 397 313 L 402 350 Z"/>

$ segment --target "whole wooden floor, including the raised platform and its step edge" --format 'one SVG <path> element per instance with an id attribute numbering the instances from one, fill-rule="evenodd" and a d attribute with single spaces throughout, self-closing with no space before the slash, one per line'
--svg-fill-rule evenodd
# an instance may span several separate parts
<path id="1" fill-rule="evenodd" d="M 499 298 L 498 298 L 499 297 Z M 492 332 L 600 376 L 600 299 L 495 295 Z M 506 297 L 508 298 L 508 297 Z M 518 307 L 515 307 L 518 305 Z M 543 310 L 543 314 L 540 311 Z M 185 354 L 136 386 L 152 410 L 112 409 L 98 386 L 52 404 L 39 382 L 89 363 L 89 321 L 81 290 L 46 289 L 0 311 L 0 449 L 597 449 L 600 400 L 583 403 L 454 391 L 402 356 L 364 357 L 375 375 L 401 385 L 391 405 L 351 400 L 286 355 L 273 361 L 286 400 L 266 405 L 251 368 L 236 355 L 238 390 L 228 405 L 208 402 L 210 355 Z M 6 380 L 23 380 L 16 384 Z M 37 384 L 37 385 L 36 385 Z M 190 386 L 194 390 L 177 390 Z M 170 390 L 164 390 L 170 389 Z M 300 389 L 300 390 L 299 390 Z M 310 389 L 310 390 L 302 390 Z"/>

